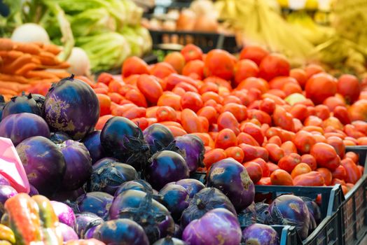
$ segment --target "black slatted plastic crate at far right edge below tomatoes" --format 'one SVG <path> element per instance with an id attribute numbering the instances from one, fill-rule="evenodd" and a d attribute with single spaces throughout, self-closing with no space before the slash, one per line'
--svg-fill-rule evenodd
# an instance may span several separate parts
<path id="1" fill-rule="evenodd" d="M 367 236 L 367 146 L 347 146 L 346 151 L 359 154 L 359 165 L 365 167 L 364 175 L 345 195 L 340 207 L 343 244 L 361 244 Z"/>

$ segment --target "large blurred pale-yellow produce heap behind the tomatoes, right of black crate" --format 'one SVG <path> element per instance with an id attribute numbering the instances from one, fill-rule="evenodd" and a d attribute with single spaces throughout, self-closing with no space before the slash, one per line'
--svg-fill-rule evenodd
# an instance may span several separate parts
<path id="1" fill-rule="evenodd" d="M 241 31 L 244 43 L 259 43 L 282 52 L 293 64 L 303 62 L 314 48 L 266 0 L 221 0 L 216 6 L 221 18 Z"/>

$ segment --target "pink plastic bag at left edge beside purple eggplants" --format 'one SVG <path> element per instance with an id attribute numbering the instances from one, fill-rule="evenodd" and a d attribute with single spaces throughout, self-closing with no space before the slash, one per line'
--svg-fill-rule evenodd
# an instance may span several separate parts
<path id="1" fill-rule="evenodd" d="M 27 174 L 13 142 L 3 137 L 0 137 L 0 174 L 8 179 L 18 193 L 29 193 Z"/>

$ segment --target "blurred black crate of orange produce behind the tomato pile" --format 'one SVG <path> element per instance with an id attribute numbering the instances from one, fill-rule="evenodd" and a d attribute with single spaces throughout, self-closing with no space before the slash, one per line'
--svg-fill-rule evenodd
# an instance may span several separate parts
<path id="1" fill-rule="evenodd" d="M 224 35 L 198 31 L 154 31 L 150 30 L 153 40 L 153 50 L 165 52 L 179 51 L 184 45 L 193 43 L 207 53 L 214 48 L 220 48 L 231 53 L 239 52 L 235 35 Z"/>

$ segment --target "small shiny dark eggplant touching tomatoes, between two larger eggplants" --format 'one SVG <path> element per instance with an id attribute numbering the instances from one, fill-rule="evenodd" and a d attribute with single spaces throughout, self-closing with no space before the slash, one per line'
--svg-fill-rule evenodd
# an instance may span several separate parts
<path id="1" fill-rule="evenodd" d="M 173 140 L 174 136 L 165 125 L 155 123 L 143 131 L 144 139 L 148 143 L 153 155 L 157 151 L 165 149 Z"/>

